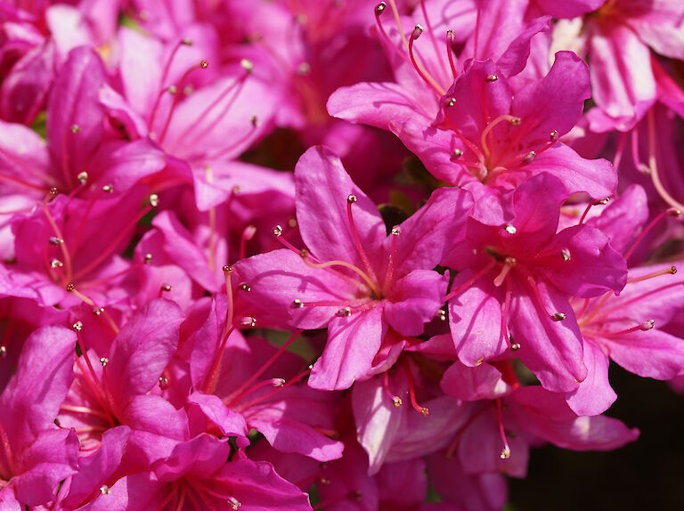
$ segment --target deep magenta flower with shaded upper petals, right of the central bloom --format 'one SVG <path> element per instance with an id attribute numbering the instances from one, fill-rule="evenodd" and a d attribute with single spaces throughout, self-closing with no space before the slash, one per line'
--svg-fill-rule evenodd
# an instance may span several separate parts
<path id="1" fill-rule="evenodd" d="M 538 174 L 513 195 L 509 223 L 472 220 L 468 243 L 444 259 L 459 271 L 448 296 L 449 321 L 464 364 L 510 348 L 549 390 L 572 391 L 587 376 L 568 298 L 619 292 L 626 264 L 599 229 L 556 232 L 565 199 L 557 177 Z"/>

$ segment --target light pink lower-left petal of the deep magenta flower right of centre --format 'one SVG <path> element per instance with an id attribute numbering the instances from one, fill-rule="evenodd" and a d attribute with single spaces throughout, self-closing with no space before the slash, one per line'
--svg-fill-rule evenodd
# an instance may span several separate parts
<path id="1" fill-rule="evenodd" d="M 472 278 L 470 269 L 459 272 L 452 289 Z M 449 327 L 459 360 L 474 367 L 504 353 L 508 348 L 505 333 L 501 335 L 503 292 L 485 275 L 459 296 L 449 300 Z"/>

